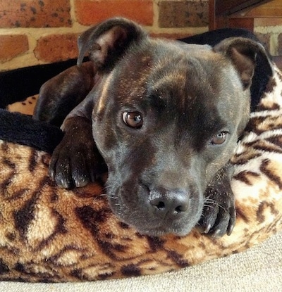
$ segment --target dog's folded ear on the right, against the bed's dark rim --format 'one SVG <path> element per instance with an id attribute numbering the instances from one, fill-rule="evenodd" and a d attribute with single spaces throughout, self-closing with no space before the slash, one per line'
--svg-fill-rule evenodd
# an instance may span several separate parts
<path id="1" fill-rule="evenodd" d="M 238 70 L 244 89 L 248 89 L 252 84 L 257 58 L 262 60 L 264 66 L 271 71 L 271 61 L 262 44 L 245 39 L 243 37 L 232 37 L 225 39 L 216 46 L 214 51 L 223 53 L 230 58 L 233 65 Z"/>

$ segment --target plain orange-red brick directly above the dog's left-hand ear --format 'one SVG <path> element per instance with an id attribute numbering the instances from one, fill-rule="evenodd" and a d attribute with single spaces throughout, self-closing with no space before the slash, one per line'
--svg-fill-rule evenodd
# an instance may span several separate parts
<path id="1" fill-rule="evenodd" d="M 75 13 L 82 25 L 94 25 L 114 16 L 152 25 L 154 15 L 152 0 L 75 0 Z"/>

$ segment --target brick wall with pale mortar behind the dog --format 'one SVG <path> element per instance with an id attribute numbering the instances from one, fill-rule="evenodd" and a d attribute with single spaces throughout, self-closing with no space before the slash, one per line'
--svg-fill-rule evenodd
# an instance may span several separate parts
<path id="1" fill-rule="evenodd" d="M 0 70 L 75 58 L 78 34 L 116 15 L 153 36 L 205 32 L 208 6 L 208 0 L 0 0 Z M 269 19 L 255 31 L 272 54 L 282 54 L 282 23 Z"/>

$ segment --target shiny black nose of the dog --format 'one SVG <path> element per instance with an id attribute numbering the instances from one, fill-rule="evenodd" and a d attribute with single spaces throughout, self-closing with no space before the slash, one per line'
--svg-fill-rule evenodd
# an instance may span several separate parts
<path id="1" fill-rule="evenodd" d="M 149 203 L 160 215 L 176 216 L 188 210 L 189 196 L 182 189 L 167 190 L 159 187 L 149 191 Z"/>

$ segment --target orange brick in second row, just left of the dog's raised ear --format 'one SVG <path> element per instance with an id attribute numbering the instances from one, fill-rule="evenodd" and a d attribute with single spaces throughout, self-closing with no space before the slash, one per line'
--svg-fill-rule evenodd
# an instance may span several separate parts
<path id="1" fill-rule="evenodd" d="M 38 40 L 35 56 L 48 63 L 65 61 L 78 56 L 78 34 L 51 34 Z"/>

